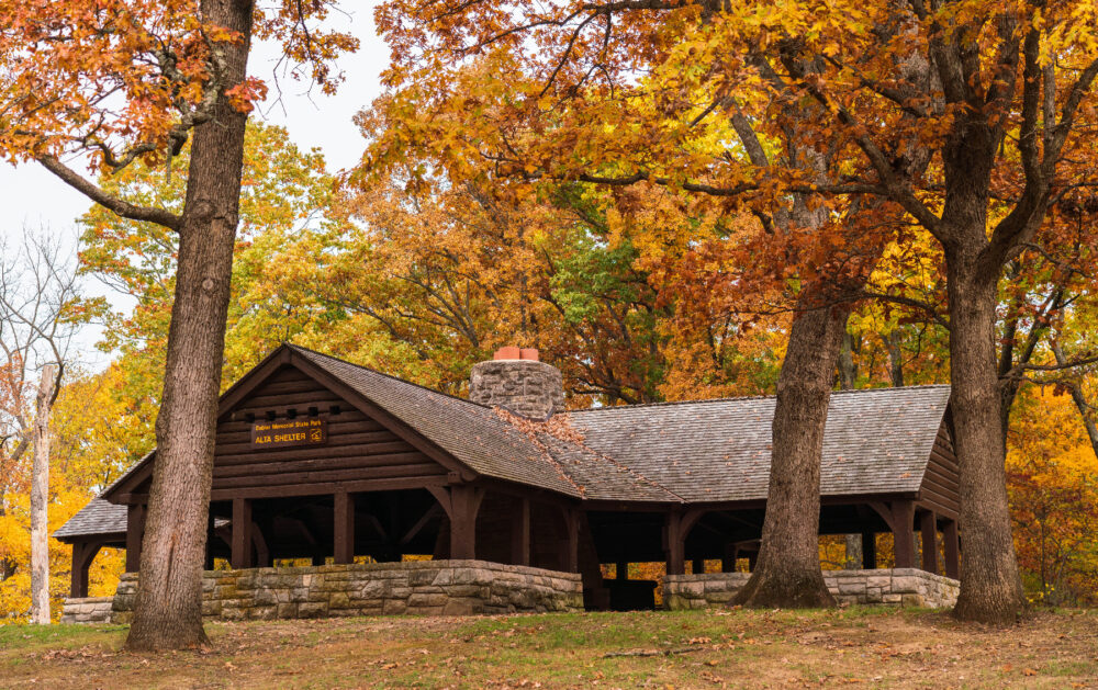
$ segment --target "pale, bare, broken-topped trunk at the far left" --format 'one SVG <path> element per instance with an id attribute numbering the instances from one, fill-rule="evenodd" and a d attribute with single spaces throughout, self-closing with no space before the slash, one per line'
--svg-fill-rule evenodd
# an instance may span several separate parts
<path id="1" fill-rule="evenodd" d="M 55 367 L 42 367 L 34 405 L 34 462 L 31 477 L 31 622 L 49 624 L 49 409 Z"/>

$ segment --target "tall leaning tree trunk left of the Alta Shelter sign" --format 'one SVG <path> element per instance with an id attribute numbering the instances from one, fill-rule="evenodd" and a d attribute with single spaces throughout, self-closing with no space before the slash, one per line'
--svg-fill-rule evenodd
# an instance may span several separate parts
<path id="1" fill-rule="evenodd" d="M 223 92 L 245 78 L 251 10 L 242 0 L 201 2 L 208 21 L 245 37 L 219 45 L 226 66 Z M 202 567 L 246 121 L 222 95 L 214 118 L 195 128 L 191 145 L 153 487 L 126 640 L 133 651 L 206 642 Z"/>

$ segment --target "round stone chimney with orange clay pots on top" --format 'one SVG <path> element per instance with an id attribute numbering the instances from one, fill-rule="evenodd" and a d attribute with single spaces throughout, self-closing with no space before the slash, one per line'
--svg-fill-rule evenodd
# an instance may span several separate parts
<path id="1" fill-rule="evenodd" d="M 500 348 L 492 360 L 473 365 L 469 399 L 541 420 L 564 411 L 564 384 L 560 370 L 538 361 L 537 350 Z"/>

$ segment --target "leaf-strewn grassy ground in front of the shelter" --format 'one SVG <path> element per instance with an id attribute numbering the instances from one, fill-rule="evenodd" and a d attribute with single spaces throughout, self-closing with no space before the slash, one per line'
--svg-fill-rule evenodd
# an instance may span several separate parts
<path id="1" fill-rule="evenodd" d="M 1098 688 L 1098 611 L 648 612 L 219 623 L 210 649 L 120 626 L 0 626 L 2 688 Z"/>

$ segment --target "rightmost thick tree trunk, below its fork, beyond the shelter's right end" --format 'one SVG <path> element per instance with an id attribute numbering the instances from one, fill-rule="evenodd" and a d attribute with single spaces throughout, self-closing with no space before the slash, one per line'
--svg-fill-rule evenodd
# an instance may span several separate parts
<path id="1" fill-rule="evenodd" d="M 954 615 L 1012 623 L 1024 607 L 1007 505 L 1006 457 L 995 357 L 997 275 L 946 248 L 954 443 L 961 467 L 964 567 Z"/>

